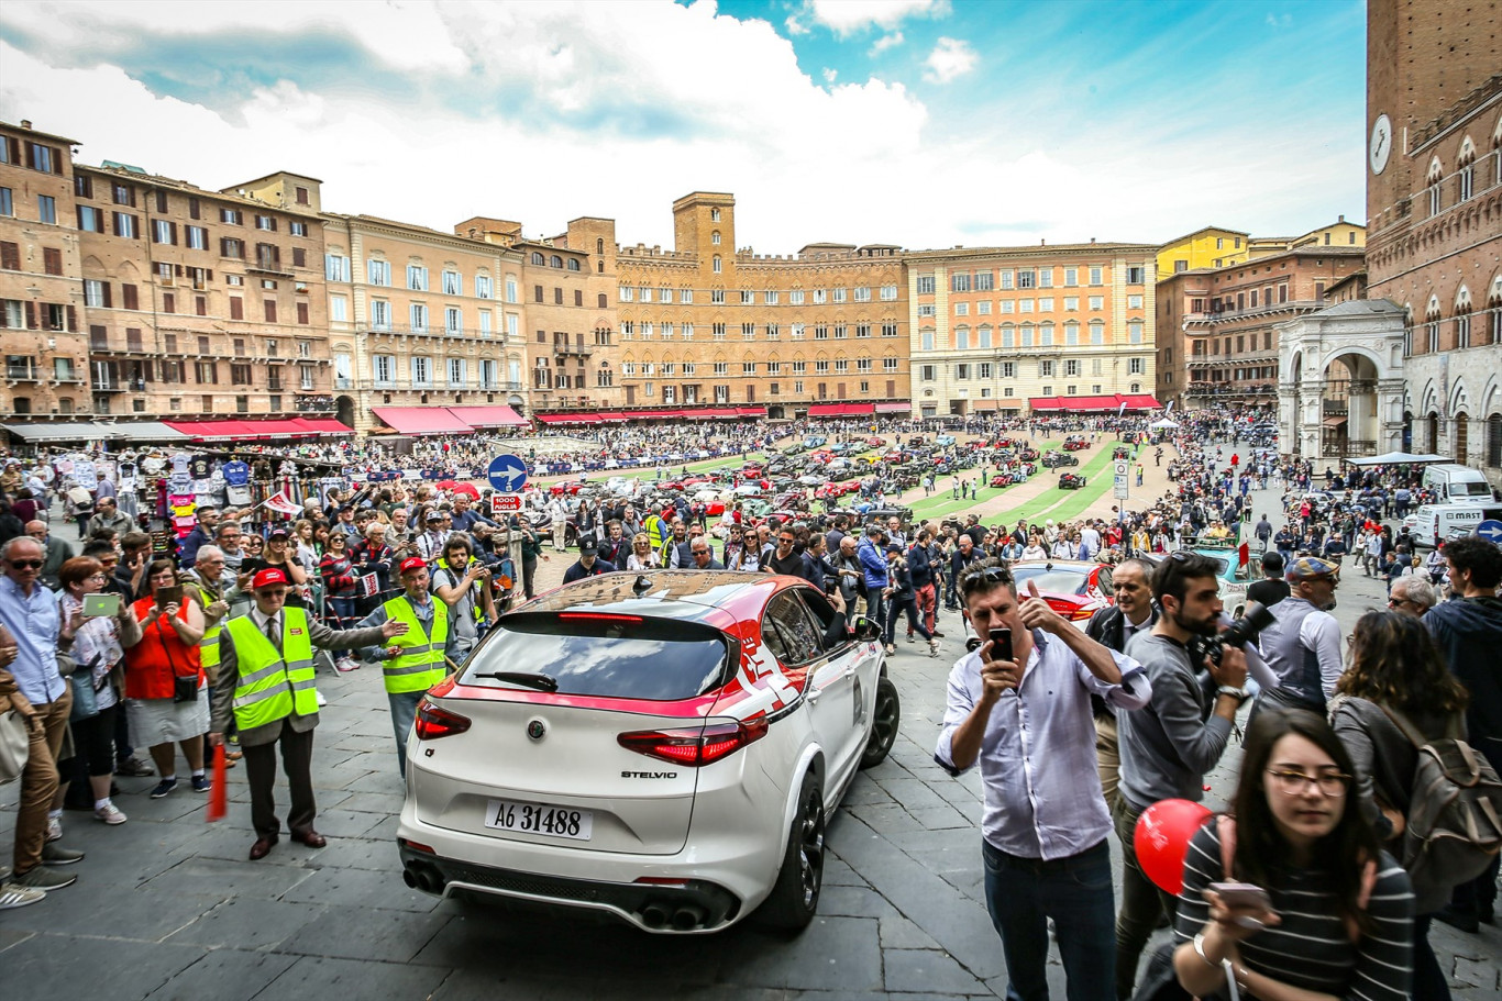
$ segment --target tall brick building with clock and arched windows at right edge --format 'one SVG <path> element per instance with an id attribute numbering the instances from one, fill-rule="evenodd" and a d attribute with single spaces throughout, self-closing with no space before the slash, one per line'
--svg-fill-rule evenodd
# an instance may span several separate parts
<path id="1" fill-rule="evenodd" d="M 1367 6 L 1368 294 L 1404 312 L 1403 444 L 1502 485 L 1502 5 Z"/>

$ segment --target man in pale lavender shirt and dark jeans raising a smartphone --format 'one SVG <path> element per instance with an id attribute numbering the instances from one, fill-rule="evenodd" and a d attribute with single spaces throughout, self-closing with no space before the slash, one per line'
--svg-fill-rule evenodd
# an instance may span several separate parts
<path id="1" fill-rule="evenodd" d="M 1071 1001 L 1114 998 L 1111 830 L 1095 776 L 1090 695 L 1117 710 L 1152 698 L 1131 657 L 1095 642 L 1011 572 L 982 560 L 960 575 L 964 617 L 985 642 L 949 672 L 934 759 L 951 774 L 976 764 L 985 906 L 1006 954 L 1008 996 L 1048 996 L 1048 918 Z M 1012 657 L 1002 659 L 1009 630 Z M 1126 713 L 1120 713 L 1126 714 Z"/>

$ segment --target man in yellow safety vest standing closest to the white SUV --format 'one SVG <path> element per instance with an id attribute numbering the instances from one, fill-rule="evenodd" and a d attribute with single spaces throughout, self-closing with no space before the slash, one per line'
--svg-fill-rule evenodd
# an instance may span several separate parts
<path id="1" fill-rule="evenodd" d="M 458 648 L 449 621 L 449 606 L 428 593 L 428 564 L 410 557 L 398 567 L 401 594 L 388 600 L 360 620 L 374 627 L 403 623 L 407 630 L 391 645 L 365 651 L 366 660 L 382 660 L 386 698 L 391 702 L 391 726 L 397 735 L 397 764 L 407 776 L 407 734 L 418 716 L 418 702 L 448 674 L 446 662 L 455 662 Z M 371 644 L 374 645 L 374 644 Z"/>

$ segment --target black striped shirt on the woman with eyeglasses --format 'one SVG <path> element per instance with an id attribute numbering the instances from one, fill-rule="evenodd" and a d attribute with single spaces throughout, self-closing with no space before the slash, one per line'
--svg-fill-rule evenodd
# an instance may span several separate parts
<path id="1" fill-rule="evenodd" d="M 1404 1001 L 1413 980 L 1413 891 L 1407 873 L 1382 852 L 1367 915 L 1371 930 L 1352 942 L 1335 905 L 1328 873 L 1284 866 L 1278 885 L 1266 887 L 1283 923 L 1241 942 L 1247 968 L 1281 983 L 1361 1001 Z M 1184 891 L 1175 918 L 1175 942 L 1187 942 L 1209 921 L 1200 893 L 1229 879 L 1221 867 L 1220 831 L 1202 827 L 1184 860 Z"/>

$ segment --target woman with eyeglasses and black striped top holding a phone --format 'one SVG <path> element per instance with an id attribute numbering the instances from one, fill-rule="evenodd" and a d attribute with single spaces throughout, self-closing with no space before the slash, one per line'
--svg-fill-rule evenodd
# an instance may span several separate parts
<path id="1" fill-rule="evenodd" d="M 1404 1001 L 1413 891 L 1352 803 L 1355 765 L 1325 717 L 1268 708 L 1247 729 L 1233 813 L 1190 840 L 1173 968 L 1196 996 Z M 1217 882 L 1266 891 L 1221 896 Z"/>

